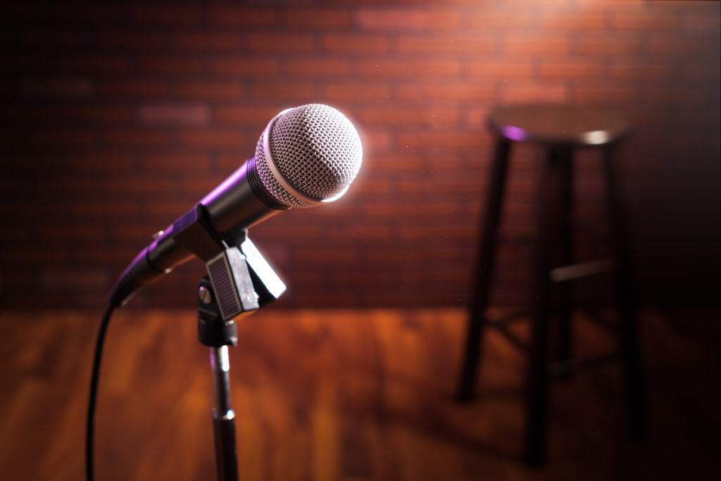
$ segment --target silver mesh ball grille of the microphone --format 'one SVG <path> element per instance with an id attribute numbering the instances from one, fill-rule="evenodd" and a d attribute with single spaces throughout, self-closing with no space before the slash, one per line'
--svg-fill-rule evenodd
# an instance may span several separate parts
<path id="1" fill-rule="evenodd" d="M 255 149 L 262 184 L 289 207 L 314 207 L 340 198 L 362 160 L 361 138 L 353 124 L 322 104 L 280 112 Z"/>

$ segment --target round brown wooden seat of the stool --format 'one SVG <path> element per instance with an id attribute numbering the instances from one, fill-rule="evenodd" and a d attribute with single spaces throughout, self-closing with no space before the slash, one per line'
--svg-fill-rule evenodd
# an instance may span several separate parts
<path id="1" fill-rule="evenodd" d="M 570 146 L 610 144 L 627 136 L 629 122 L 616 112 L 581 105 L 498 107 L 489 118 L 495 133 L 511 141 Z"/>

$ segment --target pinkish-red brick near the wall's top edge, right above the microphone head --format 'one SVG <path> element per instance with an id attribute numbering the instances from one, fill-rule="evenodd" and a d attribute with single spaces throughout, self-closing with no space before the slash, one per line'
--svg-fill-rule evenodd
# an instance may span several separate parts
<path id="1" fill-rule="evenodd" d="M 361 8 L 355 12 L 356 25 L 369 30 L 455 30 L 460 22 L 457 9 Z"/>

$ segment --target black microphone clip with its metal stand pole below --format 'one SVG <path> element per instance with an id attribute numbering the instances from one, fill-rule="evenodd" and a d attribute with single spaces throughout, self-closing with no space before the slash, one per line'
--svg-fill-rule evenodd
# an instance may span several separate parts
<path id="1" fill-rule="evenodd" d="M 211 352 L 213 437 L 218 481 L 238 480 L 235 412 L 230 400 L 228 346 L 238 345 L 235 319 L 247 317 L 286 290 L 248 238 L 247 230 L 226 239 L 205 221 L 203 206 L 176 222 L 179 243 L 205 261 L 198 281 L 198 340 Z M 230 246 L 229 246 L 230 244 Z"/>

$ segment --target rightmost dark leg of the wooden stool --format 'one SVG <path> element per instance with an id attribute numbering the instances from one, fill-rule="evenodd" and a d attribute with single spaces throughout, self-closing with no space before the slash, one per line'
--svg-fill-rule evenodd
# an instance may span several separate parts
<path id="1" fill-rule="evenodd" d="M 626 213 L 622 203 L 622 190 L 616 172 L 614 154 L 616 146 L 603 149 L 603 170 L 606 177 L 606 205 L 611 227 L 611 243 L 616 256 L 616 296 L 619 302 L 621 354 L 626 404 L 626 422 L 629 435 L 645 436 L 643 409 L 643 381 L 641 374 L 639 336 L 634 301 L 631 239 Z"/>

